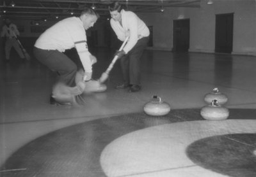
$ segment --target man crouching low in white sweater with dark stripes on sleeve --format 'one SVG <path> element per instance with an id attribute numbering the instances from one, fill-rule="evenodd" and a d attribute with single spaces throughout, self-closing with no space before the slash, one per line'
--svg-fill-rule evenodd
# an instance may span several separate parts
<path id="1" fill-rule="evenodd" d="M 60 75 L 60 82 L 69 86 L 76 86 L 76 64 L 63 52 L 70 48 L 76 48 L 84 68 L 84 81 L 92 78 L 92 64 L 97 59 L 88 51 L 86 31 L 92 27 L 99 14 L 91 8 L 85 8 L 80 17 L 70 17 L 52 25 L 36 40 L 34 53 L 36 59 L 42 64 L 56 71 Z M 92 60 L 94 59 L 94 60 Z M 54 95 L 51 96 L 51 104 L 57 103 Z"/>

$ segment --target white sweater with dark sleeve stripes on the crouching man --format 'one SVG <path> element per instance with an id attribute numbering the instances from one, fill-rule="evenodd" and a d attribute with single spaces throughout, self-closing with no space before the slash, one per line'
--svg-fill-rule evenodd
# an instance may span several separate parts
<path id="1" fill-rule="evenodd" d="M 79 17 L 65 18 L 52 25 L 36 40 L 35 46 L 43 50 L 58 50 L 59 52 L 76 47 L 84 71 L 92 72 L 86 31 Z"/>

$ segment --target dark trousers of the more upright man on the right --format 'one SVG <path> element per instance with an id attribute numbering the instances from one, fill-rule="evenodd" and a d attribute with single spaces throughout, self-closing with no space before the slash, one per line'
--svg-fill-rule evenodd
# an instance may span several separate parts
<path id="1" fill-rule="evenodd" d="M 120 59 L 125 85 L 140 85 L 141 55 L 148 44 L 148 39 L 149 37 L 139 39 L 132 50 Z"/>

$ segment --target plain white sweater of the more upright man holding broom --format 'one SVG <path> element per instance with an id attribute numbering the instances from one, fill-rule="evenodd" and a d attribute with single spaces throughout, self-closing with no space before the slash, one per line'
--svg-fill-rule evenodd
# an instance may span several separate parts
<path id="1" fill-rule="evenodd" d="M 130 36 L 123 49 L 125 53 L 128 53 L 136 45 L 138 39 L 149 36 L 150 32 L 147 25 L 134 12 L 121 10 L 120 13 L 122 25 L 113 18 L 111 18 L 110 24 L 120 41 L 124 41 L 127 36 Z"/>

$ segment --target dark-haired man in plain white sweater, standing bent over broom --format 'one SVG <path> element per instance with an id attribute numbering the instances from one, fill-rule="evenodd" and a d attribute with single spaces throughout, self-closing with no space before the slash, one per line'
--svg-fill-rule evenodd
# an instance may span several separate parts
<path id="1" fill-rule="evenodd" d="M 116 85 L 116 89 L 129 88 L 129 92 L 138 92 L 141 89 L 140 59 L 149 39 L 147 25 L 132 11 L 122 10 L 121 4 L 116 1 L 110 4 L 110 24 L 120 41 L 129 36 L 124 49 L 116 52 L 120 59 L 124 83 Z"/>

